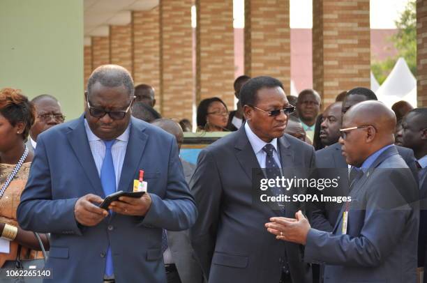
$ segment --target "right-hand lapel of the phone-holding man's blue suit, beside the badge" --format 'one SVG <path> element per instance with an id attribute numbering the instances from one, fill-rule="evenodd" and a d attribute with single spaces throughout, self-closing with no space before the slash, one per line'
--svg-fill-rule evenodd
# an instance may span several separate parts
<path id="1" fill-rule="evenodd" d="M 137 175 L 140 169 L 139 164 L 147 145 L 148 136 L 144 134 L 145 127 L 135 123 L 135 118 L 130 120 L 130 133 L 128 146 L 126 146 L 126 155 L 121 169 L 119 187 L 117 190 L 123 192 L 129 191 L 130 183 L 133 182 L 133 177 Z"/>

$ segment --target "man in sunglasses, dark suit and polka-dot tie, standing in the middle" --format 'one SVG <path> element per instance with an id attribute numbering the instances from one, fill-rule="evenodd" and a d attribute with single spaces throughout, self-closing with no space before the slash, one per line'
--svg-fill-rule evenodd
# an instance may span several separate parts
<path id="1" fill-rule="evenodd" d="M 284 172 L 310 168 L 313 147 L 284 135 L 294 107 L 277 79 L 250 79 L 240 101 L 247 123 L 200 153 L 190 181 L 200 211 L 190 229 L 195 254 L 210 283 L 311 282 L 301 245 L 280 243 L 264 229 L 269 217 L 294 215 L 299 207 L 274 211 L 253 199 L 252 186 L 253 168 L 270 167 L 267 163 Z"/>

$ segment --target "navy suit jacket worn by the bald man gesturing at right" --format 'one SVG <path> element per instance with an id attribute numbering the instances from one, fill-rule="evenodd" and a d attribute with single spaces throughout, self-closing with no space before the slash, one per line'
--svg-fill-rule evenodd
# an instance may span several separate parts
<path id="1" fill-rule="evenodd" d="M 325 283 L 415 282 L 417 182 L 395 146 L 356 181 L 350 197 L 347 234 L 343 207 L 332 233 L 310 229 L 305 260 L 326 264 Z"/>

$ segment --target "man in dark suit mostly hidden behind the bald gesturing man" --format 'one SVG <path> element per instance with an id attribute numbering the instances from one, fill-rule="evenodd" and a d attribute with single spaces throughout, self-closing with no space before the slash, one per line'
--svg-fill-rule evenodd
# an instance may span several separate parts
<path id="1" fill-rule="evenodd" d="M 350 107 L 357 105 L 360 102 L 366 100 L 377 100 L 377 96 L 370 89 L 358 87 L 351 89 L 345 94 L 343 100 L 342 112 L 343 115 L 350 109 Z M 414 176 L 417 176 L 417 169 L 415 166 L 414 153 L 409 148 L 404 148 L 402 146 L 396 146 L 398 153 L 405 160 L 406 164 L 412 170 Z M 336 144 L 331 144 L 326 148 L 322 148 L 320 151 L 316 151 L 316 168 L 337 168 L 337 173 L 344 175 L 341 176 L 341 179 L 347 178 L 345 169 L 350 169 L 350 166 L 345 162 L 345 158 L 341 151 L 341 144 L 337 142 Z M 322 174 L 327 174 L 327 171 L 321 171 Z M 324 176 L 327 178 L 328 176 Z M 339 196 L 346 196 L 348 186 L 340 186 L 340 191 L 337 191 L 335 194 Z M 335 222 L 338 218 L 338 213 L 340 211 L 340 205 L 330 204 L 330 203 L 319 203 L 316 206 L 317 209 L 313 211 L 313 221 L 311 225 L 315 229 L 322 231 L 332 231 L 332 228 L 335 225 Z"/>

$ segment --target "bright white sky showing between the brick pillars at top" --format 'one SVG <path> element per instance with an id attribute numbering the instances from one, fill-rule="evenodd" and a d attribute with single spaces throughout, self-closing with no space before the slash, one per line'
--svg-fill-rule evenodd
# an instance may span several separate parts
<path id="1" fill-rule="evenodd" d="M 409 0 L 370 0 L 370 28 L 395 29 L 395 20 Z M 234 27 L 244 27 L 244 0 L 234 0 Z M 291 29 L 313 27 L 313 0 L 290 0 Z"/>

